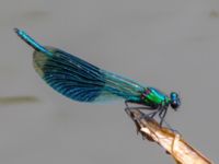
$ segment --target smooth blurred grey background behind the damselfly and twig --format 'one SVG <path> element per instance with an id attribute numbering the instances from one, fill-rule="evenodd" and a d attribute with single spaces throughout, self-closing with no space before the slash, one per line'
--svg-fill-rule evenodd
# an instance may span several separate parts
<path id="1" fill-rule="evenodd" d="M 0 163 L 174 163 L 142 141 L 124 103 L 70 101 L 35 73 L 25 30 L 106 70 L 166 93 L 182 107 L 166 120 L 217 162 L 219 1 L 0 0 Z"/>

